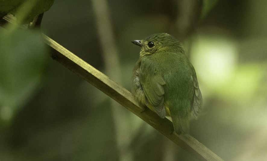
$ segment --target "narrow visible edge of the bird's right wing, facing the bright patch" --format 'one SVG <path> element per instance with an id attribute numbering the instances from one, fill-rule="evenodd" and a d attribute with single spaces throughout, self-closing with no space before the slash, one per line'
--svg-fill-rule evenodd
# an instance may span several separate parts
<path id="1" fill-rule="evenodd" d="M 193 115 L 197 117 L 199 114 L 199 111 L 201 110 L 202 106 L 202 95 L 198 86 L 198 81 L 196 78 L 196 72 L 194 71 L 193 74 L 193 84 L 194 84 L 194 97 L 193 97 L 193 106 L 192 106 L 192 111 Z"/>

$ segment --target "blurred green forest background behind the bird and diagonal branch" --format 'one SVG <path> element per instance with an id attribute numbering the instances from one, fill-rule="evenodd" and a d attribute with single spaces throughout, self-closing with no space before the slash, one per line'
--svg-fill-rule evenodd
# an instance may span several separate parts
<path id="1" fill-rule="evenodd" d="M 194 65 L 190 134 L 224 160 L 267 158 L 267 1 L 56 0 L 41 30 L 126 89 L 166 32 Z M 197 160 L 49 57 L 35 31 L 0 28 L 0 160 Z"/>

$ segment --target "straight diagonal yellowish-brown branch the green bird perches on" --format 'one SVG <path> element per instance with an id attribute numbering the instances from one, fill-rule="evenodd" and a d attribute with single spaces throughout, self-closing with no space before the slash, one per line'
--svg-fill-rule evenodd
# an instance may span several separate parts
<path id="1" fill-rule="evenodd" d="M 121 85 L 109 79 L 105 74 L 96 68 L 84 62 L 82 59 L 65 49 L 63 46 L 44 35 L 44 41 L 53 49 L 52 58 L 69 68 L 71 71 L 82 77 L 84 80 L 110 96 L 112 99 L 120 103 L 122 106 L 133 112 L 135 115 L 143 119 L 153 128 L 161 132 L 163 135 L 179 145 L 182 149 L 193 153 L 201 160 L 222 160 L 219 156 L 199 143 L 189 134 L 177 135 L 173 132 L 173 125 L 167 118 L 160 118 L 150 109 L 143 109 L 134 99 L 134 96 Z"/>

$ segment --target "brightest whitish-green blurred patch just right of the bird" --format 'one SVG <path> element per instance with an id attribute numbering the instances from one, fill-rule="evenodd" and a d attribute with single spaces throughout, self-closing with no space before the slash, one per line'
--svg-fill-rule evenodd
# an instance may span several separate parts
<path id="1" fill-rule="evenodd" d="M 221 91 L 228 86 L 237 66 L 237 54 L 237 43 L 230 36 L 196 34 L 191 58 L 200 84 L 203 80 L 211 91 Z"/>

